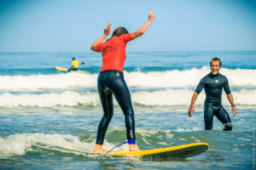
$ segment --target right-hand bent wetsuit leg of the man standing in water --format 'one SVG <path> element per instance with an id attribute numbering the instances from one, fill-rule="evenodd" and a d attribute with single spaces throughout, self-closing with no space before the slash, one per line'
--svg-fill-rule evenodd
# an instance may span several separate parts
<path id="1" fill-rule="evenodd" d="M 224 129 L 223 129 L 224 131 L 232 130 L 233 125 L 230 120 L 230 116 L 222 105 L 219 105 L 219 110 L 215 114 L 215 116 L 217 116 L 218 120 L 224 124 Z"/>

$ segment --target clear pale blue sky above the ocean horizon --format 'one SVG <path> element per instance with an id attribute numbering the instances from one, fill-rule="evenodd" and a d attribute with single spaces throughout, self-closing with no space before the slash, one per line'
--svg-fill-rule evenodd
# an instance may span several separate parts
<path id="1" fill-rule="evenodd" d="M 129 51 L 256 50 L 256 0 L 0 0 L 0 52 L 87 52 L 103 29 L 137 31 Z"/>

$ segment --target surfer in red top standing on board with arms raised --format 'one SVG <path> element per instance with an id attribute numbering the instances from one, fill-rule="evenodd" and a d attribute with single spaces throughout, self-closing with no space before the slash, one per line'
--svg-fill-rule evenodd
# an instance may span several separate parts
<path id="1" fill-rule="evenodd" d="M 103 116 L 97 131 L 96 146 L 93 150 L 95 153 L 106 152 L 106 150 L 102 149 L 102 144 L 108 129 L 108 124 L 113 116 L 113 95 L 125 115 L 129 150 L 139 150 L 135 141 L 135 120 L 131 104 L 131 95 L 123 75 L 123 67 L 126 58 L 125 48 L 127 42 L 142 36 L 153 20 L 154 12 L 150 11 L 148 21 L 137 31 L 129 33 L 124 27 L 119 27 L 113 31 L 110 39 L 103 42 L 110 33 L 111 24 L 108 22 L 108 26 L 104 29 L 102 37 L 97 39 L 91 46 L 91 50 L 102 52 L 102 69 L 98 76 L 97 88 L 102 103 Z"/>

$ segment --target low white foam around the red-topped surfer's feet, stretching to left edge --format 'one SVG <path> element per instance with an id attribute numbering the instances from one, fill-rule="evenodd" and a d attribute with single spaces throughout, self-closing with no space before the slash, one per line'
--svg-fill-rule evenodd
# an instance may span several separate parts
<path id="1" fill-rule="evenodd" d="M 115 145 L 105 140 L 102 148 L 111 150 Z M 90 156 L 94 146 L 95 141 L 89 143 L 80 141 L 79 137 L 71 134 L 18 133 L 5 138 L 0 137 L 0 159 L 23 156 L 27 151 L 40 149 Z M 128 144 L 123 144 L 115 150 L 128 151 Z"/>

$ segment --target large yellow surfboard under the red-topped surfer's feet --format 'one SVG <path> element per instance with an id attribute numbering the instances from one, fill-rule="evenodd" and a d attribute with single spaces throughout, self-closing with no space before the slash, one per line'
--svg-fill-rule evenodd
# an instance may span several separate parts
<path id="1" fill-rule="evenodd" d="M 149 159 L 163 159 L 163 158 L 187 158 L 191 156 L 196 156 L 209 148 L 207 143 L 193 143 L 193 144 L 183 144 L 167 148 L 160 148 L 154 150 L 141 150 L 132 152 L 110 152 L 108 154 L 116 156 L 142 156 L 143 158 Z"/>

